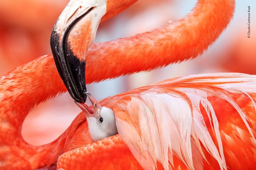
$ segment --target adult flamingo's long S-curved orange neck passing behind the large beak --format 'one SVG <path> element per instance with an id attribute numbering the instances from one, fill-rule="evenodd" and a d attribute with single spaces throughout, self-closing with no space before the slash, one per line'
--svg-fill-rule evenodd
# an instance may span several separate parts
<path id="1" fill-rule="evenodd" d="M 226 28 L 234 7 L 234 0 L 198 0 L 193 12 L 183 19 L 133 37 L 93 44 L 86 57 L 87 83 L 156 69 L 202 54 Z M 22 139 L 21 127 L 33 107 L 65 91 L 52 55 L 0 78 L 0 161 L 4 159 L 5 166 L 20 161 L 35 168 L 56 161 L 69 130 L 51 144 L 33 147 Z M 42 152 L 42 148 L 47 149 Z M 56 152 L 50 160 L 35 159 L 44 158 L 52 149 Z"/>

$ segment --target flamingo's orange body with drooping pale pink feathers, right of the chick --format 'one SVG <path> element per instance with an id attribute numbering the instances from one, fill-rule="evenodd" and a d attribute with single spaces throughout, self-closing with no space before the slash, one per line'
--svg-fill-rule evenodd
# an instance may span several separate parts
<path id="1" fill-rule="evenodd" d="M 113 108 L 119 135 L 66 152 L 57 166 L 252 169 L 255 87 L 256 76 L 204 74 L 108 97 L 100 103 Z"/>

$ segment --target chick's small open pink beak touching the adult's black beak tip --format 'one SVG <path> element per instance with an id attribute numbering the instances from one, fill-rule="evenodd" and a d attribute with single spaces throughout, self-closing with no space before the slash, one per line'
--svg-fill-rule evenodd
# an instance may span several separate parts
<path id="1" fill-rule="evenodd" d="M 86 117 L 96 117 L 96 118 L 99 117 L 100 110 L 102 107 L 100 106 L 98 101 L 92 96 L 91 93 L 85 92 L 85 94 L 87 95 L 89 100 L 92 102 L 93 109 L 91 109 L 88 105 L 84 103 L 79 103 L 75 101 L 76 105 L 81 108 L 81 110 L 84 112 Z"/>

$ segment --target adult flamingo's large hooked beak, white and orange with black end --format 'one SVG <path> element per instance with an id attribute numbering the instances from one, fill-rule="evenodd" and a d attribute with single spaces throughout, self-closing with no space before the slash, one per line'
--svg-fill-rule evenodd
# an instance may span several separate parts
<path id="1" fill-rule="evenodd" d="M 84 103 L 86 51 L 95 39 L 107 0 L 70 0 L 51 34 L 52 55 L 71 97 Z"/>

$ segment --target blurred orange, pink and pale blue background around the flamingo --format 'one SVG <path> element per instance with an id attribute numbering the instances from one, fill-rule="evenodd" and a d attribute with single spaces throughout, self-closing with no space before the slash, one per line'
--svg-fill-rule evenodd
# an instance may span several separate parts
<path id="1" fill-rule="evenodd" d="M 51 53 L 52 27 L 68 0 L 0 1 L 0 75 Z M 132 36 L 184 17 L 196 0 L 139 0 L 100 24 L 97 41 Z M 247 6 L 251 6 L 251 38 L 247 38 Z M 236 11 L 219 39 L 198 58 L 151 72 L 123 76 L 87 86 L 97 100 L 167 78 L 213 72 L 256 74 L 256 1 L 236 1 Z M 253 21 L 254 18 L 254 21 Z M 68 93 L 34 108 L 23 123 L 24 139 L 46 144 L 63 133 L 80 109 Z"/>

